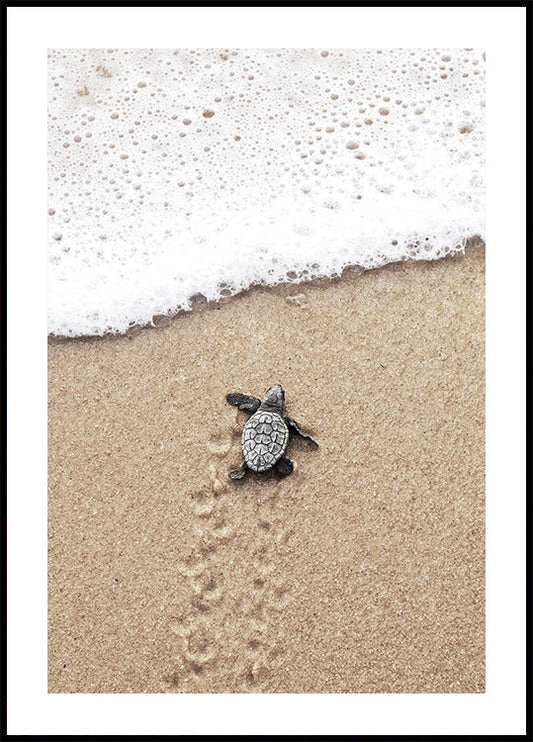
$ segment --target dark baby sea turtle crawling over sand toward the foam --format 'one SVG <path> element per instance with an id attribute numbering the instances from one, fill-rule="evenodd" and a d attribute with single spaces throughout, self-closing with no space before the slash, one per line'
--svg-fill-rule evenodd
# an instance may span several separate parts
<path id="1" fill-rule="evenodd" d="M 283 455 L 290 433 L 298 433 L 302 438 L 309 438 L 318 446 L 314 438 L 302 433 L 296 420 L 292 417 L 282 417 L 285 392 L 280 384 L 271 386 L 262 402 L 251 394 L 240 392 L 227 394 L 226 400 L 240 410 L 252 413 L 242 431 L 244 462 L 240 469 L 229 472 L 231 479 L 241 479 L 247 469 L 263 472 L 275 468 L 279 474 L 290 474 L 293 468 L 292 461 Z"/>

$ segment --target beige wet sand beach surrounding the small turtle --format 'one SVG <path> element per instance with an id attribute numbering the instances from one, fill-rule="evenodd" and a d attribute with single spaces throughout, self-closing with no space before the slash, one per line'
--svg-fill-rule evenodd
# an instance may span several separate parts
<path id="1" fill-rule="evenodd" d="M 483 245 L 50 342 L 50 692 L 481 693 L 484 620 Z"/>

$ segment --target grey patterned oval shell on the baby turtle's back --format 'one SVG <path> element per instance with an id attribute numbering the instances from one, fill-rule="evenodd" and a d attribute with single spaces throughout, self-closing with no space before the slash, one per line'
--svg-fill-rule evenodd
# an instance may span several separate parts
<path id="1" fill-rule="evenodd" d="M 283 456 L 289 440 L 289 429 L 281 415 L 258 410 L 242 431 L 244 460 L 253 471 L 271 469 Z"/>

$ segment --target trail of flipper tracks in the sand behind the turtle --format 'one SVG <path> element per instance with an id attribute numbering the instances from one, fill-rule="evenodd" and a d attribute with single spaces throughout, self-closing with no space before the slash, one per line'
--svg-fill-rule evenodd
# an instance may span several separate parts
<path id="1" fill-rule="evenodd" d="M 257 479 L 253 490 L 245 490 L 227 479 L 229 463 L 240 455 L 241 428 L 236 415 L 231 437 L 211 436 L 209 481 L 190 498 L 194 542 L 179 566 L 189 598 L 168 625 L 175 664 L 166 678 L 171 690 L 220 692 L 226 679 L 238 692 L 268 693 L 279 684 L 279 616 L 292 598 L 276 574 L 276 555 L 287 548 L 291 532 L 273 517 L 276 481 Z M 239 550 L 225 548 L 232 539 L 251 544 L 241 565 L 233 563 Z"/>

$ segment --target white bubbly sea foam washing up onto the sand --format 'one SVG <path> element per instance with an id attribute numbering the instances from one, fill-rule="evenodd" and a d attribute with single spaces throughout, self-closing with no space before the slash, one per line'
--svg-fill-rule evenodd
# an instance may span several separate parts
<path id="1" fill-rule="evenodd" d="M 49 54 L 49 331 L 484 237 L 474 49 Z"/>

